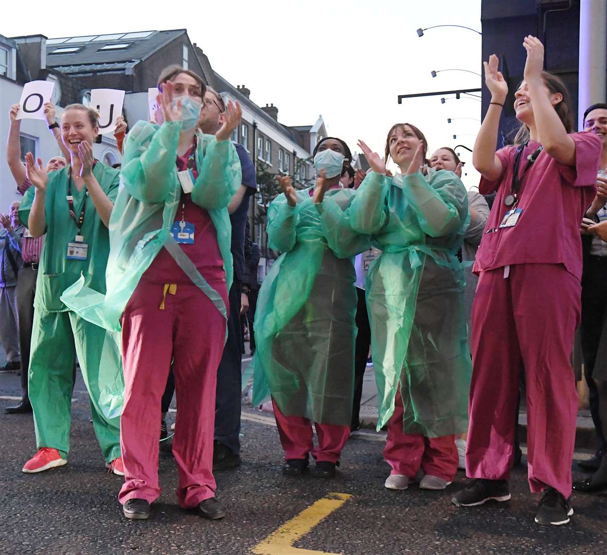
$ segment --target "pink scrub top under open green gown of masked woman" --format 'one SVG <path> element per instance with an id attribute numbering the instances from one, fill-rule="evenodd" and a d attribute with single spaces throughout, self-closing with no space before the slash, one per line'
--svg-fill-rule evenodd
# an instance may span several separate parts
<path id="1" fill-rule="evenodd" d="M 185 170 L 188 167 L 189 156 L 195 152 L 196 145 L 183 156 L 177 156 L 177 170 Z M 194 179 L 198 177 L 196 167 L 192 168 Z M 225 281 L 226 275 L 223 269 L 223 258 L 217 242 L 217 231 L 209 213 L 192 202 L 192 195 L 181 192 L 179 207 L 175 214 L 175 221 L 183 219 L 194 224 L 194 244 L 180 244 L 188 258 L 195 264 L 198 272 L 208 283 Z M 147 281 L 158 283 L 192 283 L 192 280 L 178 266 L 174 258 L 166 249 L 161 249 L 148 270 L 143 275 Z"/>

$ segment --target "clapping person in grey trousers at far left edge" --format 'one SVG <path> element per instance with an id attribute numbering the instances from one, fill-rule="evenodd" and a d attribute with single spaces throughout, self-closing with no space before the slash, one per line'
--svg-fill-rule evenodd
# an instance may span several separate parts
<path id="1" fill-rule="evenodd" d="M 19 204 L 12 203 L 8 215 L 0 214 L 0 343 L 7 358 L 4 371 L 21 368 L 16 289 L 24 227 L 19 221 Z"/>

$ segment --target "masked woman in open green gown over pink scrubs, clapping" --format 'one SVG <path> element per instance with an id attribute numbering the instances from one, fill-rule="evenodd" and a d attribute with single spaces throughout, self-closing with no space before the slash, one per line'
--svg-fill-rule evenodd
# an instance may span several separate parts
<path id="1" fill-rule="evenodd" d="M 169 66 L 158 89 L 160 125 L 138 121 L 124 144 L 107 295 L 81 283 L 63 298 L 86 318 L 122 331 L 124 515 L 147 519 L 160 496 L 161 397 L 172 361 L 177 499 L 203 518 L 220 519 L 225 509 L 212 474 L 215 382 L 232 282 L 228 203 L 242 181 L 229 138 L 242 112 L 228 103 L 217 134 L 204 135 L 196 130 L 205 109 L 202 79 Z"/>

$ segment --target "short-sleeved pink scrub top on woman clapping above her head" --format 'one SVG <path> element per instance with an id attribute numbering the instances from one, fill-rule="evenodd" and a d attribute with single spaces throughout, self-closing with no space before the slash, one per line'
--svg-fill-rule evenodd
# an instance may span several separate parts
<path id="1" fill-rule="evenodd" d="M 602 143 L 589 132 L 571 133 L 575 141 L 575 165 L 551 158 L 545 150 L 527 170 L 518 193 L 517 208 L 523 209 L 514 227 L 499 229 L 510 207 L 510 194 L 517 147 L 496 152 L 502 172 L 497 181 L 481 178 L 479 190 L 487 195 L 497 190 L 473 267 L 475 274 L 510 264 L 564 264 L 567 271 L 582 278 L 580 223 L 596 193 Z M 527 156 L 540 146 L 529 141 L 519 164 L 522 175 Z M 493 232 L 490 232 L 492 229 Z"/>

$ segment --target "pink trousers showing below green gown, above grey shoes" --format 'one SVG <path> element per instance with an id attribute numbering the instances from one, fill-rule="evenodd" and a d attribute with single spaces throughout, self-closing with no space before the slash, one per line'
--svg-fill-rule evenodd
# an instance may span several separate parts
<path id="1" fill-rule="evenodd" d="M 384 459 L 392 466 L 390 474 L 415 479 L 421 468 L 424 474 L 452 482 L 457 472 L 458 452 L 455 436 L 425 437 L 422 434 L 406 434 L 402 431 L 401 392 L 396 392 L 394 412 L 388 420 L 388 437 L 384 447 Z"/>

